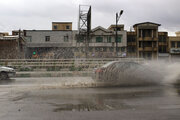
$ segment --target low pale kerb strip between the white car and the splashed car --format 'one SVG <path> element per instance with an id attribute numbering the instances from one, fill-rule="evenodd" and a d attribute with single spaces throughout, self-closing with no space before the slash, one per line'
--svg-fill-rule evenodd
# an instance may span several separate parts
<path id="1" fill-rule="evenodd" d="M 16 72 L 16 77 L 75 77 L 92 76 L 92 71 L 28 71 Z"/>

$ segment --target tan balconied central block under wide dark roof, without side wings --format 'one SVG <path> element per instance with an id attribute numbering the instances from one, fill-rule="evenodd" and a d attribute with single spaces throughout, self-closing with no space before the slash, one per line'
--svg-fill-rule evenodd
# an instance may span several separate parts
<path id="1" fill-rule="evenodd" d="M 158 56 L 158 27 L 160 24 L 144 22 L 135 24 L 137 57 L 157 59 Z"/>

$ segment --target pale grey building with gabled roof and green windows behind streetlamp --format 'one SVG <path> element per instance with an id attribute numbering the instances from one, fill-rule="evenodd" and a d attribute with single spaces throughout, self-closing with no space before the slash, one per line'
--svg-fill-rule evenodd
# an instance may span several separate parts
<path id="1" fill-rule="evenodd" d="M 126 56 L 126 31 L 124 25 L 118 25 L 118 42 L 115 42 L 115 29 L 111 25 L 108 29 L 98 26 L 92 29 L 88 42 L 89 58 L 109 58 Z M 76 40 L 75 57 L 86 57 L 85 40 Z M 118 55 L 118 56 L 117 56 Z"/>

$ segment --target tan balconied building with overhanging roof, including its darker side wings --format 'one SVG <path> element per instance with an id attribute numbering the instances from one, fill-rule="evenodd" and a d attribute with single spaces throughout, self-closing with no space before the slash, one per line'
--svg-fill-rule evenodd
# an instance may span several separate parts
<path id="1" fill-rule="evenodd" d="M 135 31 L 127 32 L 127 56 L 148 60 L 158 59 L 159 56 L 168 57 L 168 34 L 159 32 L 159 26 L 152 22 L 135 24 Z"/>

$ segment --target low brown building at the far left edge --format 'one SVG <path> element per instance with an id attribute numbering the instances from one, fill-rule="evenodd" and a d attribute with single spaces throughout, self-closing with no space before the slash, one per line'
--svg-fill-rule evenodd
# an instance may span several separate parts
<path id="1" fill-rule="evenodd" d="M 25 41 L 18 36 L 0 37 L 0 59 L 25 58 Z"/>

